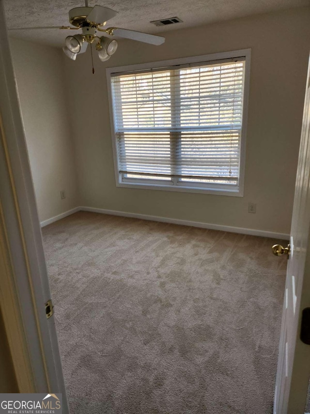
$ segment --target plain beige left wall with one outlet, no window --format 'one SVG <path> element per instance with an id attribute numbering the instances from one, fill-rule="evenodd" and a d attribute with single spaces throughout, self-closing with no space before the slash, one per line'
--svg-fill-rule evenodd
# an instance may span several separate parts
<path id="1" fill-rule="evenodd" d="M 11 39 L 31 173 L 41 221 L 78 205 L 62 50 Z M 60 191 L 66 198 L 61 199 Z"/>

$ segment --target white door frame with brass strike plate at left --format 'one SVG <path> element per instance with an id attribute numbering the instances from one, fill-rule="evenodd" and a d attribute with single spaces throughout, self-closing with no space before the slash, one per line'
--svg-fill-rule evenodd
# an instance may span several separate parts
<path id="1" fill-rule="evenodd" d="M 20 392 L 62 393 L 69 413 L 14 68 L 0 0 L 0 309 Z M 2 274 L 2 273 L 1 273 Z"/>

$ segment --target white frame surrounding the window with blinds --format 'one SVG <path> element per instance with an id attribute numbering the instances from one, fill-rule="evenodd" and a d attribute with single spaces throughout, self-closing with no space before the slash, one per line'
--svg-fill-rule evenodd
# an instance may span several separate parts
<path id="1" fill-rule="evenodd" d="M 116 136 L 113 116 L 113 102 L 112 102 L 112 87 L 111 87 L 111 74 L 121 72 L 131 72 L 136 70 L 147 70 L 158 67 L 165 68 L 167 66 L 186 65 L 193 63 L 206 63 L 211 64 L 213 61 L 222 59 L 233 59 L 245 57 L 245 79 L 244 79 L 244 99 L 243 99 L 243 116 L 242 116 L 242 128 L 241 128 L 241 143 L 240 143 L 240 169 L 239 169 L 239 182 L 238 185 L 233 184 L 203 184 L 198 182 L 192 182 L 190 185 L 187 183 L 178 182 L 177 185 L 175 179 L 163 183 L 161 180 L 147 180 L 147 179 L 131 179 L 125 178 L 124 174 L 119 173 L 118 156 L 116 148 Z M 143 63 L 138 65 L 128 66 L 116 66 L 108 67 L 107 83 L 108 83 L 108 100 L 109 100 L 109 112 L 110 112 L 110 124 L 111 124 L 111 137 L 112 148 L 114 158 L 114 170 L 115 181 L 117 187 L 126 188 L 144 188 L 152 190 L 168 190 L 168 191 L 181 191 L 190 193 L 203 193 L 203 194 L 216 194 L 224 196 L 243 197 L 244 194 L 244 177 L 245 177 L 245 161 L 246 161 L 246 139 L 247 139 L 247 126 L 248 126 L 248 99 L 249 99 L 249 81 L 250 81 L 250 59 L 251 49 L 232 50 L 228 52 L 212 53 L 202 56 L 192 56 L 180 59 L 170 59 L 160 62 Z"/>

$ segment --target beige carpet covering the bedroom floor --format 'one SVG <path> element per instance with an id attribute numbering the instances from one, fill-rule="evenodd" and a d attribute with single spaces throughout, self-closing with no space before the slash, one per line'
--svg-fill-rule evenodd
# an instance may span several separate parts
<path id="1" fill-rule="evenodd" d="M 272 239 L 79 212 L 43 229 L 71 414 L 272 413 Z"/>

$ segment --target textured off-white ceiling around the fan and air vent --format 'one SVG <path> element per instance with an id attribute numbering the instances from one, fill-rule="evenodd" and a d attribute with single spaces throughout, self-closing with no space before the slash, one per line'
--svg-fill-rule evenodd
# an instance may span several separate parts
<path id="1" fill-rule="evenodd" d="M 147 33 L 166 32 L 201 26 L 252 14 L 307 6 L 309 0 L 90 0 L 89 6 L 99 4 L 119 14 L 109 20 L 107 27 L 117 26 Z M 68 11 L 83 6 L 79 0 L 4 0 L 8 28 L 68 25 Z M 183 23 L 155 27 L 151 20 L 180 17 Z M 75 33 L 75 32 L 71 32 Z M 68 31 L 25 30 L 10 31 L 22 37 L 52 46 L 63 45 Z"/>

